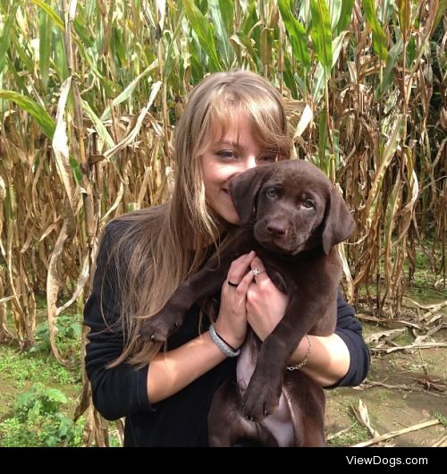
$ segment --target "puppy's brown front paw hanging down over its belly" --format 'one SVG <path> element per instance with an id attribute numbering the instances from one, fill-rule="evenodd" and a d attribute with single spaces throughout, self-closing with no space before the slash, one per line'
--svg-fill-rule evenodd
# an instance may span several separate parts
<path id="1" fill-rule="evenodd" d="M 251 377 L 243 398 L 243 412 L 246 419 L 261 421 L 274 412 L 281 395 L 281 385 L 276 387 L 272 380 Z"/>

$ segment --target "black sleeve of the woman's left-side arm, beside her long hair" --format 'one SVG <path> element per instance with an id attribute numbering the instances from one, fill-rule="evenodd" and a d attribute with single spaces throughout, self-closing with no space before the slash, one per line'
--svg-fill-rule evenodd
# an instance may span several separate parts
<path id="1" fill-rule="evenodd" d="M 115 368 L 105 366 L 119 357 L 123 348 L 119 317 L 119 295 L 116 291 L 114 266 L 108 261 L 110 242 L 119 224 L 112 222 L 97 256 L 93 289 L 84 309 L 84 325 L 90 327 L 85 365 L 92 388 L 93 403 L 105 419 L 119 419 L 131 413 L 151 410 L 148 401 L 148 366 L 135 369 L 123 362 Z M 103 275 L 105 281 L 103 283 Z M 101 313 L 101 292 L 103 292 Z"/>

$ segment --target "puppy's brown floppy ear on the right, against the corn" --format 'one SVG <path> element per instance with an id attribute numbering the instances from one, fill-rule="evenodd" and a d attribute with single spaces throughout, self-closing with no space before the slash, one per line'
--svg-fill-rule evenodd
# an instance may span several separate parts
<path id="1" fill-rule="evenodd" d="M 354 231 L 354 219 L 340 192 L 333 186 L 325 212 L 323 250 L 328 255 L 333 245 L 344 241 Z"/>

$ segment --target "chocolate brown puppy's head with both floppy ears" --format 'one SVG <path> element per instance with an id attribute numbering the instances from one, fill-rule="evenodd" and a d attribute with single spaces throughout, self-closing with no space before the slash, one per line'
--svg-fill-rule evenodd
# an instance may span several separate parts
<path id="1" fill-rule="evenodd" d="M 262 165 L 236 176 L 230 192 L 242 224 L 266 249 L 296 255 L 344 241 L 354 220 L 323 172 L 303 160 Z"/>

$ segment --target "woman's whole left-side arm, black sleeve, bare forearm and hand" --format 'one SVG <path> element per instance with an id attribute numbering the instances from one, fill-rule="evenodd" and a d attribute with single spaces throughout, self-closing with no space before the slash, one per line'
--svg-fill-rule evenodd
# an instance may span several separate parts
<path id="1" fill-rule="evenodd" d="M 122 354 L 123 349 L 122 326 L 117 323 L 120 297 L 114 279 L 113 259 L 109 261 L 108 258 L 111 241 L 117 238 L 117 226 L 114 223 L 107 225 L 98 252 L 93 290 L 84 309 L 84 324 L 90 327 L 86 370 L 93 402 L 105 419 L 151 410 L 150 402 L 159 402 L 175 394 L 225 359 L 210 335 L 205 333 L 173 351 L 160 352 L 144 368 L 136 369 L 126 362 L 106 368 Z M 223 285 L 221 308 L 215 323 L 217 334 L 236 348 L 245 339 L 247 331 L 245 295 L 252 275 L 249 273 L 242 277 L 253 257 L 254 252 L 232 263 L 229 275 L 232 281 L 241 281 L 241 284 L 237 291 L 226 283 Z"/>

